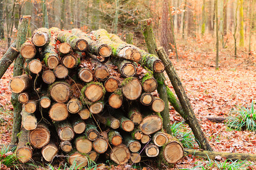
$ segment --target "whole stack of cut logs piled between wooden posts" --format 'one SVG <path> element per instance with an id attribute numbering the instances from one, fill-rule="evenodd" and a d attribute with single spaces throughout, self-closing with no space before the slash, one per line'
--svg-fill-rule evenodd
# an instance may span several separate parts
<path id="1" fill-rule="evenodd" d="M 156 56 L 105 29 L 59 28 L 36 29 L 20 54 L 24 74 L 9 83 L 23 104 L 20 162 L 32 158 L 33 148 L 42 148 L 47 162 L 64 153 L 80 167 L 104 153 L 117 164 L 139 163 L 141 154 L 168 163 L 183 156 L 162 130 L 164 102 L 153 74 L 164 65 Z"/>

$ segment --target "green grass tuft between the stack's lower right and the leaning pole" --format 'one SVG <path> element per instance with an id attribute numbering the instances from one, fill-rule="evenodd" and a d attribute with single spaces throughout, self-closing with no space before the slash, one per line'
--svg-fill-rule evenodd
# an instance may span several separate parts
<path id="1" fill-rule="evenodd" d="M 195 141 L 195 137 L 192 134 L 192 131 L 187 129 L 187 126 L 185 126 L 184 122 L 174 122 L 174 124 L 171 125 L 171 131 L 172 135 L 179 139 L 183 147 L 196 147 L 197 143 Z"/>

